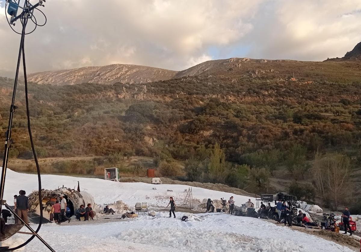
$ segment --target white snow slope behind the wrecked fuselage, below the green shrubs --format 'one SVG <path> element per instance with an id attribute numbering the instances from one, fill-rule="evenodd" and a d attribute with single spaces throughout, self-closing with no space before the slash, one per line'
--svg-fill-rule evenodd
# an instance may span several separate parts
<path id="1" fill-rule="evenodd" d="M 148 184 L 148 183 L 125 183 L 106 181 L 97 178 L 80 178 L 60 175 L 42 175 L 42 188 L 53 190 L 58 187 L 76 188 L 77 181 L 80 183 L 81 191 L 85 190 L 90 193 L 97 204 L 109 204 L 117 200 L 122 200 L 130 207 L 134 207 L 137 202 L 147 202 L 148 206 L 152 207 L 166 207 L 169 202 L 169 197 L 174 197 L 176 204 L 183 204 L 186 197 L 185 189 L 189 186 L 177 184 Z M 153 190 L 155 187 L 157 190 Z M 34 174 L 17 173 L 12 170 L 6 173 L 6 184 L 4 199 L 8 202 L 13 202 L 13 196 L 18 194 L 19 190 L 25 190 L 26 194 L 30 194 L 32 190 L 37 190 L 38 180 Z M 172 190 L 169 192 L 167 190 Z M 234 196 L 236 205 L 242 205 L 248 199 L 251 199 L 256 204 L 255 198 L 250 198 L 242 195 L 235 195 L 228 192 L 214 191 L 199 187 L 192 187 L 193 199 L 212 198 L 220 199 L 224 197 L 229 199 Z"/>

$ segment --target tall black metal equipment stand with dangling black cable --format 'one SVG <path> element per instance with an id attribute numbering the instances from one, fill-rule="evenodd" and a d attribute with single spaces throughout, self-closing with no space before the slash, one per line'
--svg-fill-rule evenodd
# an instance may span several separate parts
<path id="1" fill-rule="evenodd" d="M 29 229 L 31 231 L 31 233 L 26 233 L 26 232 L 22 232 L 25 234 L 31 234 L 31 238 L 29 238 L 25 243 L 14 247 L 14 248 L 8 248 L 8 247 L 1 247 L 0 251 L 12 251 L 12 250 L 16 250 L 18 248 L 21 248 L 23 246 L 25 246 L 27 243 L 29 243 L 35 236 L 50 250 L 50 251 L 54 251 L 54 249 L 52 249 L 52 247 L 43 240 L 43 238 L 40 237 L 40 235 L 38 234 L 38 231 L 40 229 L 41 226 L 41 219 L 42 219 L 42 205 L 40 205 L 40 223 L 38 228 L 36 229 L 36 231 L 34 229 L 32 229 L 29 224 L 25 223 L 25 221 L 22 220 L 22 218 L 20 218 L 18 216 L 18 214 L 12 209 L 10 208 L 10 206 L 8 204 L 6 204 L 6 201 L 3 200 L 4 198 L 4 186 L 5 186 L 5 177 L 6 177 L 6 169 L 8 166 L 8 158 L 9 158 L 9 150 L 11 148 L 11 129 L 12 129 L 12 122 L 13 122 L 13 116 L 14 116 L 14 112 L 17 109 L 17 107 L 15 106 L 15 95 L 16 95 L 16 88 L 17 88 L 17 83 L 18 83 L 18 75 L 19 75 L 19 67 L 20 67 L 20 60 L 21 60 L 21 56 L 22 56 L 22 60 L 23 60 L 23 70 L 24 70 L 24 79 L 25 79 L 25 93 L 26 93 L 26 110 L 27 110 L 27 119 L 28 119 L 28 129 L 29 129 L 29 136 L 30 136 L 30 141 L 31 141 L 31 147 L 32 147 L 32 151 L 34 153 L 34 158 L 35 158 L 35 162 L 36 162 L 36 166 L 38 168 L 38 178 L 39 178 L 39 199 L 41 198 L 41 183 L 40 183 L 40 172 L 39 172 L 39 165 L 38 165 L 38 161 L 36 158 L 36 153 L 35 153 L 35 148 L 34 148 L 34 144 L 32 141 L 32 135 L 31 135 L 31 130 L 30 130 L 30 116 L 29 116 L 29 101 L 28 101 L 28 95 L 27 95 L 27 77 L 26 77 L 26 64 L 25 64 L 25 50 L 24 50 L 24 40 L 25 40 L 25 30 L 26 30 L 26 25 L 27 22 L 29 20 L 30 13 L 32 13 L 34 11 L 34 9 L 38 6 L 42 5 L 42 1 L 39 1 L 39 3 L 30 6 L 29 5 L 29 1 L 25 1 L 24 4 L 24 8 L 22 13 L 11 19 L 11 22 L 15 22 L 18 19 L 21 20 L 22 23 L 22 32 L 21 32 L 21 39 L 20 39 L 20 48 L 19 48 L 19 54 L 18 54 L 18 61 L 17 61 L 17 68 L 16 68 L 16 74 L 15 74 L 15 81 L 14 81 L 14 89 L 13 89 L 13 96 L 12 96 L 12 103 L 10 105 L 10 116 L 9 116 L 9 125 L 8 125 L 8 130 L 6 131 L 6 135 L 5 135 L 5 150 L 4 150 L 4 158 L 3 158 L 3 167 L 2 167 L 2 171 L 1 171 L 1 181 L 0 181 L 0 200 L 1 200 L 1 205 L 0 205 L 0 211 L 1 211 L 1 207 L 2 205 L 5 205 L 5 207 L 12 213 L 14 214 L 14 217 L 17 217 L 17 219 L 19 221 L 22 222 L 23 225 L 25 225 L 27 227 L 27 229 Z M 34 21 L 33 21 L 34 22 Z M 36 23 L 35 23 L 36 25 Z M 34 29 L 35 30 L 35 29 Z M 41 199 L 40 199 L 41 202 Z M 40 203 L 41 204 L 41 203 Z"/>

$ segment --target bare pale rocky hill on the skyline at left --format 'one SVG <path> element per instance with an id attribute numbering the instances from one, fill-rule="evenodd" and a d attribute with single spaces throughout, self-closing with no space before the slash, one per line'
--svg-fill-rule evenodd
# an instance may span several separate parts
<path id="1" fill-rule="evenodd" d="M 45 71 L 29 74 L 28 80 L 39 84 L 147 83 L 171 79 L 177 71 L 149 66 L 114 64 L 88 66 L 71 70 Z"/>

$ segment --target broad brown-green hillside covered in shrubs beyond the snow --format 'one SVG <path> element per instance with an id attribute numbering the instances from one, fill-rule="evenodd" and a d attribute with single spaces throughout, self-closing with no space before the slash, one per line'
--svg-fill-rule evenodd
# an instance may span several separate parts
<path id="1" fill-rule="evenodd" d="M 254 192 L 271 190 L 268 178 L 284 169 L 317 191 L 316 153 L 337 152 L 358 174 L 360 75 L 360 61 L 232 58 L 142 84 L 31 83 L 32 127 L 40 157 L 148 156 L 166 175 Z M 4 135 L 12 80 L 1 78 L 0 88 Z M 20 84 L 11 157 L 32 157 L 24 100 Z"/>

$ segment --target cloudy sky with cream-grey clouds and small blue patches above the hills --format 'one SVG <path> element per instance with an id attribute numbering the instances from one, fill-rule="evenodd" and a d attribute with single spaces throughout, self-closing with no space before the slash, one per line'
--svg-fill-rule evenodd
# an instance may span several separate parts
<path id="1" fill-rule="evenodd" d="M 3 75 L 16 67 L 20 39 L 4 5 Z M 25 41 L 30 72 L 115 63 L 183 70 L 230 57 L 322 61 L 361 41 L 360 0 L 47 0 L 41 9 L 48 22 Z"/>

